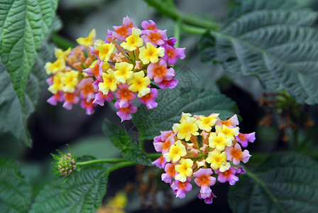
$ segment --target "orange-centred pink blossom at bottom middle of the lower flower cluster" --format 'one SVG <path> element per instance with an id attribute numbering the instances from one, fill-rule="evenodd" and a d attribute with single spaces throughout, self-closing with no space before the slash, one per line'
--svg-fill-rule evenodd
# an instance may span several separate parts
<path id="1" fill-rule="evenodd" d="M 216 179 L 212 177 L 211 168 L 200 168 L 197 172 L 193 173 L 193 176 L 196 177 L 194 182 L 201 187 L 200 194 L 202 198 L 207 198 L 211 195 L 211 186 L 215 184 Z"/>

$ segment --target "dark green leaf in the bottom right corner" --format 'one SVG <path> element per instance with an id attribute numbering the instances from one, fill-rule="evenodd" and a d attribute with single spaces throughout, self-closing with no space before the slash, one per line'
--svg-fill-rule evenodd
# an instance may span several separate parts
<path id="1" fill-rule="evenodd" d="M 278 153 L 246 174 L 230 187 L 234 212 L 317 212 L 318 164 L 311 158 Z"/>

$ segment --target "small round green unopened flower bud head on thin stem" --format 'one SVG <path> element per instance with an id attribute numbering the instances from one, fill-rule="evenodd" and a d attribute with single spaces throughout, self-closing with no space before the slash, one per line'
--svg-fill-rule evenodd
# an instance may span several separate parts
<path id="1" fill-rule="evenodd" d="M 65 176 L 65 178 L 68 178 L 70 174 L 77 170 L 76 165 L 76 159 L 75 156 L 73 156 L 71 153 L 63 154 L 60 151 L 60 156 L 51 154 L 57 162 L 54 162 L 55 167 L 53 172 L 55 172 L 57 175 Z"/>

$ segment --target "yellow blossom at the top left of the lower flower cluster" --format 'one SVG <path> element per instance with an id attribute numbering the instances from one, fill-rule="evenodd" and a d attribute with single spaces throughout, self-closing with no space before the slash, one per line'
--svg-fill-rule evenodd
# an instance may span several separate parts
<path id="1" fill-rule="evenodd" d="M 197 119 L 193 117 L 186 117 L 181 121 L 181 124 L 173 124 L 173 131 L 177 132 L 177 138 L 180 140 L 185 139 L 185 141 L 190 141 L 191 136 L 198 136 L 197 132 L 199 128 L 196 124 Z"/>

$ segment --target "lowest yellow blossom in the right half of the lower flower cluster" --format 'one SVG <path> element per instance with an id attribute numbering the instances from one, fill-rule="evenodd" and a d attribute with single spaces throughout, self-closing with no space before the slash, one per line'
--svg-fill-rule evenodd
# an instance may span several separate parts
<path id="1" fill-rule="evenodd" d="M 226 162 L 226 152 L 220 152 L 217 149 L 210 152 L 206 159 L 207 163 L 211 163 L 211 168 L 213 170 L 219 169 L 221 173 L 229 170 L 231 164 Z"/>

